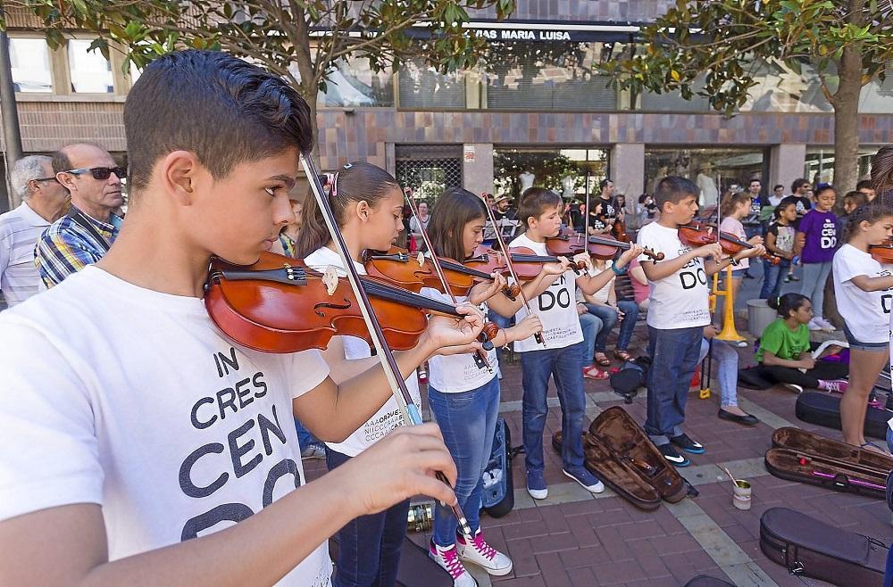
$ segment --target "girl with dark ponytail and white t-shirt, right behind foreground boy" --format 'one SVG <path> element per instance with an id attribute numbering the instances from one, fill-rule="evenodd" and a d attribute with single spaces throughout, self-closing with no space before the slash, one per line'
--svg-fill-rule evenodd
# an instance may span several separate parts
<path id="1" fill-rule="evenodd" d="M 347 250 L 361 275 L 363 252 L 387 251 L 403 229 L 403 192 L 387 171 L 364 162 L 348 163 L 330 180 L 330 203 Z M 313 268 L 330 267 L 344 275 L 341 257 L 332 248 L 330 233 L 316 201 L 305 201 L 304 226 L 298 235 L 297 256 Z M 336 383 L 363 372 L 372 363 L 369 344 L 354 336 L 332 336 L 322 351 Z M 415 372 L 406 379 L 413 403 L 421 409 L 419 381 Z M 339 467 L 378 442 L 396 426 L 405 424 L 391 398 L 344 442 L 326 442 L 326 466 Z M 338 531 L 338 560 L 333 584 L 372 585 L 396 582 L 400 550 L 406 534 L 409 500 L 378 514 L 358 517 Z"/>

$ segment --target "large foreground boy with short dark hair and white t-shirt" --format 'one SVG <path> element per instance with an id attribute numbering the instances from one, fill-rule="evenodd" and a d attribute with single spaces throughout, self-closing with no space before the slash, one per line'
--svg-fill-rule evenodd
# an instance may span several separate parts
<path id="1" fill-rule="evenodd" d="M 417 493 L 455 503 L 431 475 L 455 479 L 433 425 L 306 483 L 291 412 L 343 441 L 391 397 L 383 371 L 335 384 L 319 351 L 251 351 L 204 310 L 210 257 L 254 263 L 292 217 L 309 116 L 218 52 L 161 57 L 130 90 L 121 236 L 0 317 L 4 583 L 330 585 L 326 542 L 351 518 Z M 460 311 L 398 356 L 403 376 L 474 340 L 480 312 Z"/>

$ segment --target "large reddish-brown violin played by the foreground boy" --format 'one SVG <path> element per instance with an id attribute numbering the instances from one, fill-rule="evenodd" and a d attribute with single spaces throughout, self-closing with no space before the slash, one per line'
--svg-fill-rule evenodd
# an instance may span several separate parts
<path id="1" fill-rule="evenodd" d="M 450 304 L 375 277 L 361 281 L 392 349 L 413 348 L 428 327 L 428 314 L 463 318 Z M 333 335 L 372 342 L 346 278 L 314 271 L 303 260 L 263 252 L 255 264 L 238 266 L 214 258 L 204 292 L 214 324 L 255 351 L 325 349 Z"/>

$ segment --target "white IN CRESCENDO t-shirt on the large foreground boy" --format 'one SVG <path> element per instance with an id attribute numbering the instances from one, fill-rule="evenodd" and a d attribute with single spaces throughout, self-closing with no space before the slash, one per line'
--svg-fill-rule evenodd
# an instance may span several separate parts
<path id="1" fill-rule="evenodd" d="M 99 504 L 116 560 L 305 484 L 292 399 L 328 376 L 319 351 L 240 347 L 202 300 L 94 266 L 0 315 L 0 348 L 0 519 Z M 323 543 L 279 584 L 330 575 Z"/>

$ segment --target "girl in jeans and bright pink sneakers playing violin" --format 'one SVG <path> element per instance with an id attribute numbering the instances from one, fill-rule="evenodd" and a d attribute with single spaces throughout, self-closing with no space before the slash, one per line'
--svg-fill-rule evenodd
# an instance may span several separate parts
<path id="1" fill-rule="evenodd" d="M 466 259 L 474 254 L 483 242 L 487 211 L 480 198 L 461 187 L 448 188 L 435 204 L 431 214 L 429 236 L 433 252 L 439 257 Z M 548 275 L 563 273 L 560 263 L 544 266 L 540 277 L 523 285 L 528 296 L 538 293 L 542 281 Z M 521 296 L 509 300 L 502 290 L 505 277 L 496 276 L 493 283 L 476 285 L 460 302 L 488 304 L 497 313 L 512 316 L 521 306 Z M 447 293 L 429 287 L 421 290 L 440 302 L 452 302 Z M 487 308 L 481 307 L 486 314 Z M 494 344 L 505 346 L 528 338 L 542 330 L 539 318 L 529 316 L 517 326 L 505 328 L 495 336 Z M 475 364 L 472 348 L 457 348 L 454 354 L 431 357 L 428 363 L 428 400 L 431 413 L 437 420 L 450 454 L 453 455 L 458 476 L 455 482 L 456 498 L 465 512 L 474 536 L 468 540 L 456 536 L 457 522 L 449 508 L 439 505 L 434 517 L 434 533 L 429 546 L 430 557 L 443 566 L 453 577 L 456 587 L 474 582 L 463 566 L 472 562 L 483 567 L 490 575 L 506 575 L 512 570 L 512 560 L 498 552 L 487 542 L 480 531 L 480 500 L 483 491 L 483 473 L 490 459 L 493 434 L 499 413 L 499 380 L 496 376 L 497 353 L 487 354 L 492 369 Z M 505 475 L 511 475 L 505 471 Z M 457 548 L 458 547 L 458 548 Z"/>

